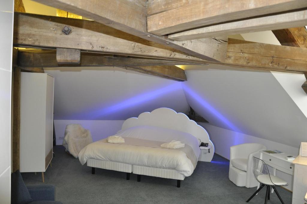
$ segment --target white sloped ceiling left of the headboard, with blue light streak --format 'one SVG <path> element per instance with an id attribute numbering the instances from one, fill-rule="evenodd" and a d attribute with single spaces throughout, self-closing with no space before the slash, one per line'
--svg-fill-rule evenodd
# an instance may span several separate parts
<path id="1" fill-rule="evenodd" d="M 178 81 L 117 67 L 46 68 L 45 72 L 55 81 L 55 120 L 126 120 L 161 107 L 189 110 Z"/>

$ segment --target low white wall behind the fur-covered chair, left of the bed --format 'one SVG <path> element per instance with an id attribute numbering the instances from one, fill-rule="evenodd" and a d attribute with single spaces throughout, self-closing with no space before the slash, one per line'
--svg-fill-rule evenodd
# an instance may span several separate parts
<path id="1" fill-rule="evenodd" d="M 91 131 L 93 141 L 97 141 L 108 136 L 114 135 L 122 129 L 124 120 L 54 120 L 56 132 L 56 144 L 61 145 L 66 125 L 81 124 L 82 127 Z"/>

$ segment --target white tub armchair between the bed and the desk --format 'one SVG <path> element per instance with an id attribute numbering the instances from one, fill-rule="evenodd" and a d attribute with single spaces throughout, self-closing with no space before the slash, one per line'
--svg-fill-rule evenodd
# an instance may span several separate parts
<path id="1" fill-rule="evenodd" d="M 253 156 L 266 146 L 258 143 L 245 143 L 230 147 L 229 180 L 237 186 L 256 187 L 258 182 L 253 174 Z"/>

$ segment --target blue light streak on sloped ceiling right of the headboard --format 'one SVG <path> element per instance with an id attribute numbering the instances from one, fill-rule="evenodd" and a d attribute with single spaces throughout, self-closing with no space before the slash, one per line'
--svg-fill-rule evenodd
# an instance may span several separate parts
<path id="1" fill-rule="evenodd" d="M 223 124 L 225 124 L 230 130 L 241 132 L 234 124 L 232 124 L 226 117 L 224 117 L 219 111 L 217 111 L 212 105 L 210 105 L 203 97 L 193 91 L 187 85 L 182 84 L 182 88 L 185 94 L 190 95 L 202 108 L 205 108 L 213 116 L 216 116 Z"/>

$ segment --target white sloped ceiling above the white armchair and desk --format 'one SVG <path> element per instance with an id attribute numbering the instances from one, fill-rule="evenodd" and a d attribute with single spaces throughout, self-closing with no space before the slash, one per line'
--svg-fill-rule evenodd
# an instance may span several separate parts
<path id="1" fill-rule="evenodd" d="M 297 148 L 307 140 L 307 118 L 272 73 L 220 65 L 184 68 L 188 104 L 209 124 Z"/>

